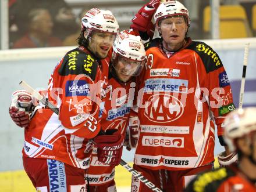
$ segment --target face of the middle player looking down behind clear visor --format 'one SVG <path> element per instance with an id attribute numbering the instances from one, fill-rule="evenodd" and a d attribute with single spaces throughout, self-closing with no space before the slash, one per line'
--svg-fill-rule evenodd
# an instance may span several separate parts
<path id="1" fill-rule="evenodd" d="M 115 66 L 115 70 L 116 70 L 116 74 L 118 75 L 118 78 L 123 82 L 129 81 L 129 79 L 136 72 L 140 64 L 141 64 L 141 61 L 134 61 L 134 60 L 130 60 L 125 57 L 119 56 L 118 63 Z"/>

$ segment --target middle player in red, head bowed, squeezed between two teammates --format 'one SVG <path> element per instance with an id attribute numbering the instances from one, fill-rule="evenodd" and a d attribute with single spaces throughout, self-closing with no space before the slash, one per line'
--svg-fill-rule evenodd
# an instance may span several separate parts
<path id="1" fill-rule="evenodd" d="M 137 114 L 133 113 L 133 97 L 136 88 L 135 76 L 138 76 L 145 64 L 145 49 L 139 36 L 122 31 L 113 44 L 111 66 L 109 67 L 108 86 L 105 89 L 105 102 L 101 103 L 105 113 L 100 112 L 101 128 L 104 131 L 117 132 L 125 137 L 126 127 L 128 147 L 135 147 L 138 134 Z M 130 114 L 131 113 L 131 114 Z M 102 164 L 97 158 L 97 149 L 94 148 L 91 156 L 87 180 L 90 191 L 108 192 L 115 189 L 115 166 Z"/>

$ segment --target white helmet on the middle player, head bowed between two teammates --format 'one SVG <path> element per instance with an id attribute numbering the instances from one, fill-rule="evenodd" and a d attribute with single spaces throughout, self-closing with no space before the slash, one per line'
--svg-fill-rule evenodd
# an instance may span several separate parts
<path id="1" fill-rule="evenodd" d="M 112 65 L 115 69 L 118 61 L 125 58 L 136 66 L 136 70 L 127 71 L 126 75 L 137 76 L 144 67 L 146 52 L 140 36 L 129 34 L 128 31 L 119 32 L 113 42 Z"/>

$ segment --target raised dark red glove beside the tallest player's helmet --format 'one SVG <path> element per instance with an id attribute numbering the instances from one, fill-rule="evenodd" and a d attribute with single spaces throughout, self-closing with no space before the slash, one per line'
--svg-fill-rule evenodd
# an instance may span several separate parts
<path id="1" fill-rule="evenodd" d="M 151 22 L 151 19 L 159 4 L 159 0 L 151 0 L 146 5 L 144 5 L 140 10 L 138 10 L 138 13 L 136 13 L 136 15 L 131 20 L 133 24 L 131 24 L 130 27 L 134 30 L 147 32 L 149 37 L 153 37 L 155 26 Z"/>

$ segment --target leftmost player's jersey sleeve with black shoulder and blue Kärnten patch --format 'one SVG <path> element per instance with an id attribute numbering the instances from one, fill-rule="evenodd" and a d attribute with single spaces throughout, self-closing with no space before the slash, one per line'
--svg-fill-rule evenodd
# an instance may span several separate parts
<path id="1" fill-rule="evenodd" d="M 97 135 L 101 82 L 97 60 L 74 49 L 55 68 L 48 94 L 59 107 L 66 133 L 90 139 Z"/>

